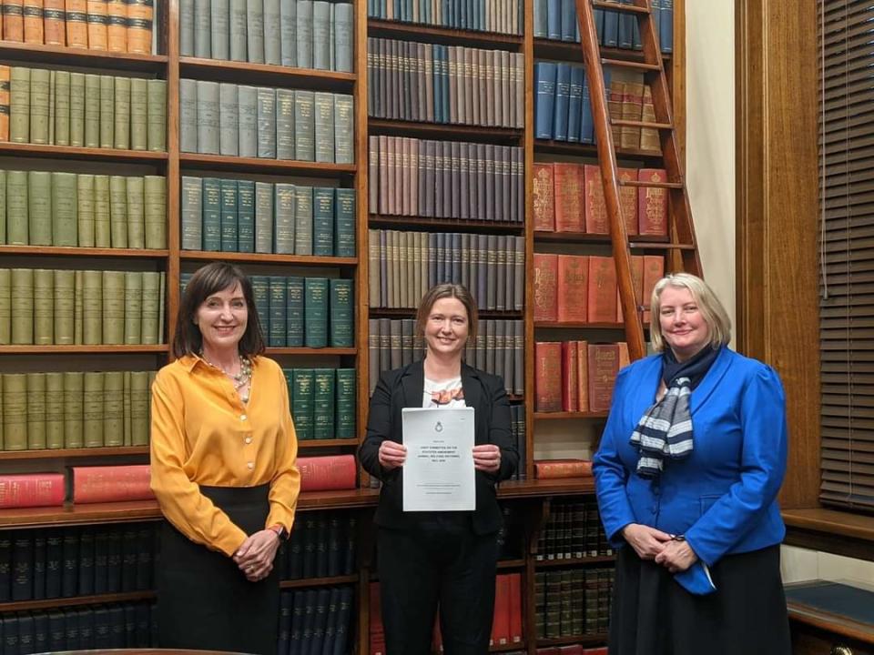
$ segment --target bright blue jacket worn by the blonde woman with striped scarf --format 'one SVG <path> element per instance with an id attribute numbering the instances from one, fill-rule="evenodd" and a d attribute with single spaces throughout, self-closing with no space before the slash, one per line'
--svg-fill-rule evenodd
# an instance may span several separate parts
<path id="1" fill-rule="evenodd" d="M 593 470 L 601 519 L 615 546 L 640 523 L 686 535 L 708 566 L 723 555 L 772 546 L 786 528 L 777 491 L 786 473 L 786 397 L 777 373 L 728 348 L 692 392 L 695 449 L 666 459 L 658 481 L 636 475 L 628 442 L 655 402 L 662 360 L 636 361 L 616 378 L 613 405 Z"/>

